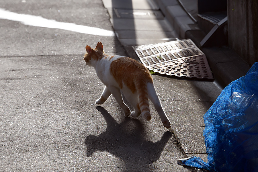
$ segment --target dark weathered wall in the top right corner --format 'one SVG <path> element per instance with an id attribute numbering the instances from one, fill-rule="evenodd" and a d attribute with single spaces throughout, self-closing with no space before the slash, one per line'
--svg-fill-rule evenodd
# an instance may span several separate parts
<path id="1" fill-rule="evenodd" d="M 258 62 L 258 1 L 228 0 L 228 43 L 246 62 Z"/>

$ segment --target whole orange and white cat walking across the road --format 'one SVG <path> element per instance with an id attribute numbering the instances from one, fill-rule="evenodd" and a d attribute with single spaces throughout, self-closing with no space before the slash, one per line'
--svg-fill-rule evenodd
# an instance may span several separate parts
<path id="1" fill-rule="evenodd" d="M 163 125 L 166 128 L 171 127 L 154 88 L 150 72 L 143 64 L 129 57 L 105 54 L 101 42 L 98 42 L 94 49 L 88 45 L 86 46 L 84 60 L 87 65 L 95 68 L 97 76 L 105 85 L 103 93 L 95 102 L 96 104 L 103 104 L 113 94 L 122 110 L 124 110 L 124 116 L 137 117 L 142 114 L 146 120 L 150 120 L 148 100 L 150 99 Z M 133 112 L 124 103 L 120 90 L 134 108 Z"/>

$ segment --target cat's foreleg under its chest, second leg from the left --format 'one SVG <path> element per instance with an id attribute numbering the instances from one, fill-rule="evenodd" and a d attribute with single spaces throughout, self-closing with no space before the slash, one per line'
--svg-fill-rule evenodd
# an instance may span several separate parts
<path id="1" fill-rule="evenodd" d="M 130 111 L 129 107 L 126 104 L 124 104 L 124 101 L 123 101 L 120 89 L 115 87 L 115 86 L 109 86 L 109 90 L 111 91 L 111 93 L 115 97 L 115 99 L 118 102 L 119 106 L 124 111 L 124 116 L 125 117 L 129 116 L 131 114 L 131 111 Z"/>

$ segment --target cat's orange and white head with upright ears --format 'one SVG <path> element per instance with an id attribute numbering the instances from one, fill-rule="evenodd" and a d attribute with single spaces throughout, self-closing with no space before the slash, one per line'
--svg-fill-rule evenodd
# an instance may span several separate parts
<path id="1" fill-rule="evenodd" d="M 86 46 L 86 54 L 84 55 L 84 60 L 87 65 L 94 66 L 94 64 L 104 56 L 103 45 L 101 42 L 98 42 L 96 48 L 91 48 Z"/>

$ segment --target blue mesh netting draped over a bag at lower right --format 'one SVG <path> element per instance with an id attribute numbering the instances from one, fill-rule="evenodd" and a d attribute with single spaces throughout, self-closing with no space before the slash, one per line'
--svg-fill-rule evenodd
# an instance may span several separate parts
<path id="1" fill-rule="evenodd" d="M 204 115 L 208 162 L 182 163 L 217 172 L 258 171 L 258 62 L 231 82 Z"/>

